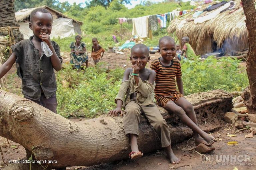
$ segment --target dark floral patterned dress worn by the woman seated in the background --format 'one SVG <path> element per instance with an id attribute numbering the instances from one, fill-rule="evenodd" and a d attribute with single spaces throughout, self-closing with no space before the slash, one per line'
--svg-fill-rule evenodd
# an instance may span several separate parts
<path id="1" fill-rule="evenodd" d="M 74 49 L 74 51 L 83 51 L 83 48 L 86 47 L 86 44 L 84 42 L 80 42 L 79 46 L 75 45 L 75 42 L 71 42 L 70 48 Z M 83 63 L 85 63 L 88 60 L 88 53 L 85 52 L 83 54 L 76 55 L 75 53 L 70 53 L 70 63 L 74 65 L 77 69 L 80 69 Z"/>

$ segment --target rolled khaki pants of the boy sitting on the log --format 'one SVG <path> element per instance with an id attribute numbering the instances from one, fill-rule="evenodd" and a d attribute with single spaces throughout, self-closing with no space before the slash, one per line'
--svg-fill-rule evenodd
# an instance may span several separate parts
<path id="1" fill-rule="evenodd" d="M 162 147 L 171 144 L 169 127 L 163 119 L 156 105 L 141 106 L 135 101 L 129 102 L 125 106 L 125 114 L 123 118 L 125 135 L 139 135 L 140 114 L 144 113 L 149 123 L 154 127 L 158 136 L 161 138 Z"/>

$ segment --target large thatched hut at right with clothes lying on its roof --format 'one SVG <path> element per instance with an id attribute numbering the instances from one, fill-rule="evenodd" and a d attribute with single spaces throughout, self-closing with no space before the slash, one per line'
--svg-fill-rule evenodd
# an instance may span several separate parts
<path id="1" fill-rule="evenodd" d="M 190 44 L 197 55 L 214 52 L 214 45 L 222 48 L 225 54 L 244 50 L 248 48 L 245 15 L 240 1 L 235 0 L 234 2 L 235 11 L 226 10 L 201 24 L 189 21 L 192 20 L 194 14 L 194 12 L 190 12 L 172 20 L 167 31 L 169 34 L 175 33 L 180 42 L 182 37 L 189 37 Z M 203 12 L 200 16 L 204 15 L 207 15 L 207 12 Z"/>

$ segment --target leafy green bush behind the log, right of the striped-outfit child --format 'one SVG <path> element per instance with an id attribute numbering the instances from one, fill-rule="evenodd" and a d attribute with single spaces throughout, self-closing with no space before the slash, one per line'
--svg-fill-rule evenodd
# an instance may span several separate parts
<path id="1" fill-rule="evenodd" d="M 185 95 L 214 89 L 242 91 L 248 86 L 245 68 L 240 60 L 208 57 L 204 61 L 182 60 L 182 80 Z"/>

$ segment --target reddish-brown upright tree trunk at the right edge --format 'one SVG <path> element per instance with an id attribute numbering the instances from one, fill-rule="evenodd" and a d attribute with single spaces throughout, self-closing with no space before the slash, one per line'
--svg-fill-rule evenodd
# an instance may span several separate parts
<path id="1" fill-rule="evenodd" d="M 242 0 L 245 23 L 248 30 L 249 51 L 247 57 L 247 75 L 249 79 L 249 89 L 242 96 L 248 109 L 248 113 L 256 114 L 256 10 L 254 0 Z"/>

